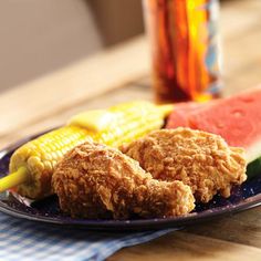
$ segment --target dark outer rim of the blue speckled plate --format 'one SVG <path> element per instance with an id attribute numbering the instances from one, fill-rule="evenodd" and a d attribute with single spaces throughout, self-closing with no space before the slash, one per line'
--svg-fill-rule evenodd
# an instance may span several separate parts
<path id="1" fill-rule="evenodd" d="M 53 129 L 53 128 L 52 128 Z M 3 149 L 0 149 L 0 160 L 9 153 L 21 146 L 22 144 L 46 133 L 41 132 L 35 135 L 28 136 L 25 138 L 19 139 L 17 143 L 7 146 Z M 3 192 L 4 194 L 4 192 Z M 14 209 L 10 206 L 7 206 L 2 199 L 0 199 L 0 211 L 10 215 L 15 218 L 21 218 L 31 221 L 53 223 L 53 225 L 63 225 L 63 226 L 73 226 L 73 227 L 84 227 L 86 229 L 95 229 L 95 230 L 112 230 L 112 229 L 140 229 L 144 230 L 146 227 L 149 229 L 157 228 L 180 228 L 184 226 L 190 226 L 192 223 L 203 222 L 213 218 L 218 218 L 220 216 L 229 216 L 239 211 L 248 210 L 251 208 L 255 208 L 261 206 L 261 192 L 254 196 L 251 196 L 237 205 L 231 205 L 229 208 L 226 207 L 217 207 L 219 208 L 217 211 L 203 211 L 200 212 L 200 217 L 196 212 L 191 212 L 181 217 L 174 218 L 155 218 L 155 219 L 134 219 L 134 220 L 88 220 L 88 219 L 72 219 L 70 217 L 64 217 L 65 219 L 59 220 L 53 217 L 43 217 L 35 216 L 33 213 L 24 213 L 21 210 Z"/>

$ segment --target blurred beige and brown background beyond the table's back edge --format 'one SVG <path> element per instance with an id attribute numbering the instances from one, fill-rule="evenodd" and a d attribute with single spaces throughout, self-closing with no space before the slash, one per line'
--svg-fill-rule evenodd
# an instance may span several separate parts
<path id="1" fill-rule="evenodd" d="M 229 1 L 251 2 L 223 0 L 221 4 Z M 240 23 L 237 12 L 231 13 L 236 15 L 230 21 Z M 0 1 L 0 91 L 143 32 L 142 0 Z"/>

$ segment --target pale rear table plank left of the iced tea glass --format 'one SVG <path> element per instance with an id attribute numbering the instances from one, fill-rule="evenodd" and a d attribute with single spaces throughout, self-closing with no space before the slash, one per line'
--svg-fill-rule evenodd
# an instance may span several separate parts
<path id="1" fill-rule="evenodd" d="M 146 74 L 146 46 L 139 38 L 1 94 L 0 137 Z"/>

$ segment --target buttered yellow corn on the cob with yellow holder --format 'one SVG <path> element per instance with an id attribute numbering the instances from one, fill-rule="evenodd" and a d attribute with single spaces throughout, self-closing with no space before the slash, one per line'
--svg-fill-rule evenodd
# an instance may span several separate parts
<path id="1" fill-rule="evenodd" d="M 64 127 L 18 148 L 10 159 L 10 175 L 0 180 L 0 192 L 12 188 L 31 199 L 49 196 L 54 167 L 70 149 L 87 140 L 118 147 L 160 128 L 171 109 L 173 105 L 132 102 L 79 114 Z"/>

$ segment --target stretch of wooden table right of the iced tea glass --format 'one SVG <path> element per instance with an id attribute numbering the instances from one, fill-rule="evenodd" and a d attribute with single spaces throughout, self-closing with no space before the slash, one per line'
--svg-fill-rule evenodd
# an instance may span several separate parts
<path id="1" fill-rule="evenodd" d="M 229 95 L 261 82 L 261 1 L 222 3 L 223 94 Z"/>

